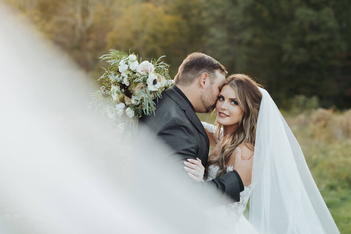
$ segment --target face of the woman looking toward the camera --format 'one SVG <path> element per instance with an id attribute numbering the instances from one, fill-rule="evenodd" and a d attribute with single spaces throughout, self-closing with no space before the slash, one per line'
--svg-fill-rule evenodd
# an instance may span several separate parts
<path id="1" fill-rule="evenodd" d="M 237 127 L 239 121 L 243 116 L 243 109 L 238 104 L 237 94 L 235 89 L 229 85 L 225 85 L 220 94 L 216 104 L 217 122 L 223 126 Z"/>

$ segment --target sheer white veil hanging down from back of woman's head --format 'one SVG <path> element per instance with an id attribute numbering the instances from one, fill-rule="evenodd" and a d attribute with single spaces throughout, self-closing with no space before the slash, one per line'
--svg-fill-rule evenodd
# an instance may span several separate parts
<path id="1" fill-rule="evenodd" d="M 302 150 L 269 93 L 258 115 L 250 222 L 259 233 L 340 233 Z"/>

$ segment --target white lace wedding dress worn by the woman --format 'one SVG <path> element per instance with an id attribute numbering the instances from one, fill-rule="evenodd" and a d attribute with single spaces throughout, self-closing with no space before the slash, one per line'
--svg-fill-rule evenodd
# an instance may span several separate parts
<path id="1" fill-rule="evenodd" d="M 201 123 L 208 132 L 216 132 L 217 129 L 215 128 L 215 126 L 206 122 Z M 222 138 L 223 131 L 221 129 L 219 133 L 219 139 L 216 139 L 217 144 Z M 216 178 L 218 169 L 218 166 L 210 165 L 208 167 L 208 176 L 205 180 L 210 181 Z M 227 167 L 227 172 L 230 171 L 233 171 L 233 166 Z M 229 230 L 230 233 L 258 234 L 257 230 L 244 217 L 244 210 L 246 209 L 247 202 L 249 201 L 251 191 L 251 185 L 245 186 L 244 191 L 240 193 L 239 202 L 233 202 L 211 209 L 211 215 L 218 215 L 223 217 L 221 219 L 225 219 L 223 220 L 223 223 L 225 223 L 225 225 L 227 226 L 226 229 Z"/>

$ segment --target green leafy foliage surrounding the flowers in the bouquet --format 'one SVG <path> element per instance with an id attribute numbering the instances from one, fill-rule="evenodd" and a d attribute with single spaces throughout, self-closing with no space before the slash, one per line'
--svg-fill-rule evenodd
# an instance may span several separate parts
<path id="1" fill-rule="evenodd" d="M 107 69 L 102 67 L 105 70 L 105 73 L 97 80 L 101 82 L 102 86 L 98 91 L 91 94 L 92 101 L 88 103 L 88 108 L 95 107 L 95 112 L 99 111 L 102 112 L 102 114 L 106 114 L 106 112 L 115 110 L 114 106 L 116 106 L 117 104 L 125 103 L 126 107 L 130 108 L 130 110 L 133 111 L 134 116 L 127 117 L 126 115 L 121 115 L 118 119 L 115 120 L 117 120 L 117 123 L 125 123 L 127 125 L 126 127 L 132 128 L 132 132 L 135 133 L 135 129 L 137 129 L 136 125 L 138 119 L 142 115 L 155 115 L 155 102 L 158 102 L 158 100 L 162 97 L 161 93 L 171 85 L 171 82 L 168 82 L 171 81 L 170 75 L 168 74 L 168 68 L 170 67 L 170 65 L 161 61 L 161 59 L 165 56 L 161 56 L 157 60 L 151 60 L 151 63 L 154 66 L 154 73 L 164 78 L 167 81 L 167 83 L 166 85 L 161 85 L 161 87 L 157 91 L 150 91 L 146 82 L 146 80 L 149 77 L 149 73 L 147 72 L 145 75 L 143 75 L 140 72 L 136 71 L 137 69 L 132 70 L 128 66 L 128 69 L 126 71 L 126 79 L 128 80 L 129 85 L 125 85 L 124 81 L 122 81 L 122 73 L 119 71 L 119 64 L 123 60 L 127 61 L 128 56 L 132 55 L 130 51 L 129 54 L 123 51 L 116 51 L 114 49 L 110 49 L 109 51 L 110 53 L 102 55 L 99 58 L 100 61 L 108 62 L 108 67 Z M 138 61 L 140 65 L 140 63 L 142 62 L 141 57 L 139 59 L 138 55 L 135 56 L 136 61 Z M 141 84 L 143 86 L 141 86 Z M 136 93 L 135 87 L 138 85 L 140 85 L 140 87 L 142 88 L 138 93 Z M 119 87 L 119 90 L 117 92 L 117 100 L 114 100 L 112 97 L 112 86 Z M 128 98 L 131 98 L 132 94 L 133 98 L 135 98 L 135 103 L 131 104 L 128 102 L 127 104 L 125 98 L 126 96 L 128 96 Z"/>

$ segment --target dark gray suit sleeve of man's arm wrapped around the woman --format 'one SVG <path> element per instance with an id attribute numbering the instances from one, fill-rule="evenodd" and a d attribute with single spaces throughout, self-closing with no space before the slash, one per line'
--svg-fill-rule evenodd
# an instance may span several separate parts
<path id="1" fill-rule="evenodd" d="M 196 139 L 195 134 L 197 133 L 194 133 L 190 127 L 183 125 L 181 120 L 172 118 L 157 133 L 157 137 L 173 149 L 174 153 L 178 155 L 177 161 L 179 162 L 177 164 L 183 167 L 183 161 L 198 157 L 197 152 L 200 146 L 194 140 Z M 240 192 L 244 190 L 243 182 L 236 171 L 228 172 L 212 181 L 197 184 L 203 188 L 214 187 L 218 194 L 226 194 L 234 201 L 240 200 Z"/>

